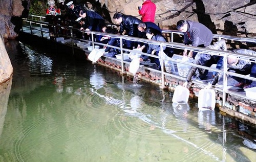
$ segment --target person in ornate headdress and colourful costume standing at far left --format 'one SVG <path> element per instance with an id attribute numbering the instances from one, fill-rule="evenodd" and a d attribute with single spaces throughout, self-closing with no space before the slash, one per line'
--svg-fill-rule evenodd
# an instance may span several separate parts
<path id="1" fill-rule="evenodd" d="M 54 0 L 48 0 L 47 1 L 49 8 L 46 10 L 46 20 L 49 22 L 49 33 L 50 33 L 50 39 L 55 39 L 55 34 L 57 31 L 54 31 L 54 27 L 52 25 L 57 25 L 57 15 L 60 15 L 60 9 L 56 9 Z M 56 28 L 57 29 L 57 28 Z M 56 32 L 56 33 L 55 33 Z"/>

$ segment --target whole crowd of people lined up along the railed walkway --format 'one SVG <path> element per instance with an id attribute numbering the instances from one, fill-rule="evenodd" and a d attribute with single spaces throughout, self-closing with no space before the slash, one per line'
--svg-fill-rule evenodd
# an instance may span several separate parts
<path id="1" fill-rule="evenodd" d="M 65 0 L 58 0 L 59 4 L 64 5 Z M 50 24 L 54 24 L 54 16 L 61 15 L 59 9 L 56 9 L 54 0 L 48 0 L 49 8 L 47 9 L 46 15 Z M 145 38 L 156 41 L 166 42 L 167 40 L 162 35 L 162 30 L 155 24 L 155 13 L 156 13 L 156 5 L 151 0 L 143 0 L 142 6 L 138 7 L 138 13 L 141 15 L 141 19 L 132 15 L 125 15 L 122 13 L 115 13 L 113 16 L 113 20 L 117 25 L 119 25 L 119 30 L 110 28 L 106 26 L 104 18 L 95 11 L 88 10 L 81 5 L 76 5 L 73 1 L 70 1 L 65 4 L 67 7 L 67 15 L 69 18 L 69 22 L 71 22 L 74 28 L 84 30 L 87 34 L 82 35 L 82 32 L 79 30 L 75 33 L 77 38 L 80 39 L 90 39 L 90 31 L 97 31 L 103 33 L 112 33 L 112 34 L 121 34 L 138 38 Z M 213 41 L 212 32 L 203 24 L 196 21 L 190 20 L 180 20 L 177 22 L 177 30 L 183 32 L 184 34 L 184 44 L 192 45 L 194 47 L 201 47 L 206 49 L 214 49 L 214 50 L 222 50 L 226 51 L 226 42 L 224 40 L 220 40 L 217 42 Z M 49 26 L 50 37 L 54 37 L 53 28 Z M 56 32 L 56 31 L 55 31 Z M 52 34 L 52 35 L 51 35 Z M 120 39 L 116 37 L 110 37 L 107 34 L 105 36 L 96 35 L 96 41 L 101 42 L 104 45 L 105 52 L 114 51 L 115 54 L 119 54 L 120 50 L 112 49 L 108 45 L 112 45 L 115 47 L 120 47 L 120 44 L 123 45 L 125 49 L 135 49 L 138 48 L 144 53 L 151 55 L 159 55 L 160 45 L 150 44 L 150 43 L 142 43 L 131 40 L 123 40 L 120 43 Z M 172 57 L 174 55 L 174 50 L 171 48 L 163 47 L 164 53 L 168 57 Z M 232 52 L 253 55 L 256 56 L 256 52 L 247 49 L 239 49 L 234 50 Z M 203 65 L 210 67 L 212 64 L 217 64 L 217 69 L 222 70 L 223 68 L 223 57 L 219 55 L 210 55 L 204 54 L 202 52 L 195 51 L 187 51 L 186 49 L 183 51 L 184 57 L 192 57 L 194 59 L 194 64 Z M 149 57 L 147 55 L 141 55 L 140 61 L 146 61 L 150 59 L 151 62 L 156 63 L 157 69 L 161 70 L 161 64 L 158 58 Z M 228 71 L 242 74 L 242 75 L 250 75 L 250 77 L 256 77 L 256 65 L 255 60 L 248 59 L 240 59 L 238 57 L 228 57 Z M 187 84 L 191 81 L 195 73 L 199 74 L 200 79 L 205 79 L 208 71 L 198 68 L 191 67 L 189 73 L 186 77 L 186 81 L 183 86 L 187 86 Z M 212 75 L 212 79 L 209 83 L 209 86 L 216 85 L 219 81 L 221 74 L 214 72 Z M 238 83 L 233 86 L 248 88 L 251 86 L 252 81 L 247 79 L 242 79 L 239 77 L 231 76 L 233 79 L 237 80 Z"/>

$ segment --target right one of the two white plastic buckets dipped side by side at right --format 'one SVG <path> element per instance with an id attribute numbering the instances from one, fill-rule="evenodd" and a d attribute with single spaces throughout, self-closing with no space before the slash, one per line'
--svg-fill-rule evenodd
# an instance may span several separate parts
<path id="1" fill-rule="evenodd" d="M 200 89 L 198 94 L 198 108 L 203 110 L 214 110 L 216 93 L 214 89 Z"/>

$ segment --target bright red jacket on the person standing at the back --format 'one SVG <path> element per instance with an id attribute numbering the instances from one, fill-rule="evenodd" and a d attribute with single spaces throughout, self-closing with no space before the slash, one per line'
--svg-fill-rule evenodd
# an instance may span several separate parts
<path id="1" fill-rule="evenodd" d="M 143 2 L 139 14 L 141 15 L 141 20 L 143 22 L 155 22 L 156 5 L 151 0 Z"/>

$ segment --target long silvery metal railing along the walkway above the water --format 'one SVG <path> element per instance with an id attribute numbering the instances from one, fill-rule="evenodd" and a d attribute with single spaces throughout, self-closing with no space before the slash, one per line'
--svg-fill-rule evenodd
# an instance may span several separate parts
<path id="1" fill-rule="evenodd" d="M 41 37 L 44 36 L 44 33 L 49 33 L 49 31 L 42 29 L 42 26 L 49 25 L 49 24 L 47 24 L 47 22 L 41 22 L 41 21 L 35 21 L 35 20 L 29 20 L 29 19 L 24 19 L 24 22 L 28 23 L 29 26 L 23 25 L 23 28 L 26 28 L 26 27 L 29 28 L 31 34 L 33 34 L 33 32 L 32 32 L 33 30 L 40 31 L 41 32 Z M 36 25 L 39 25 L 40 28 L 38 29 L 38 27 L 35 27 Z M 121 43 L 122 43 L 122 40 L 125 39 L 125 40 L 142 42 L 142 43 L 156 44 L 156 45 L 160 45 L 160 48 L 161 48 L 159 56 L 146 54 L 146 53 L 143 53 L 143 52 L 138 52 L 138 53 L 143 54 L 143 55 L 147 55 L 147 56 L 150 56 L 150 57 L 158 58 L 162 65 L 164 65 L 165 60 L 168 60 L 168 61 L 172 61 L 174 63 L 187 64 L 187 65 L 191 65 L 191 66 L 196 66 L 198 68 L 204 68 L 204 69 L 210 70 L 210 71 L 223 73 L 223 87 L 222 88 L 215 87 L 217 90 L 223 92 L 223 104 L 225 104 L 225 102 L 226 102 L 226 95 L 227 94 L 236 95 L 236 96 L 239 96 L 239 97 L 242 97 L 242 98 L 246 98 L 244 95 L 241 95 L 238 92 L 233 92 L 233 91 L 228 90 L 228 87 L 227 87 L 227 76 L 228 75 L 240 77 L 240 78 L 243 78 L 243 79 L 249 79 L 249 80 L 252 80 L 252 81 L 256 81 L 256 78 L 249 77 L 249 76 L 244 76 L 244 75 L 240 75 L 240 74 L 236 74 L 236 73 L 232 73 L 232 72 L 227 71 L 228 70 L 227 57 L 232 56 L 232 57 L 238 57 L 239 59 L 251 59 L 251 60 L 254 60 L 253 62 L 255 62 L 256 56 L 234 53 L 232 51 L 220 51 L 220 50 L 212 50 L 212 49 L 192 47 L 192 46 L 184 45 L 183 43 L 174 42 L 174 40 L 173 40 L 174 34 L 180 34 L 180 35 L 183 34 L 179 31 L 175 31 L 175 30 L 168 30 L 168 31 L 164 30 L 163 31 L 163 33 L 170 33 L 171 38 L 172 38 L 171 42 L 160 42 L 160 41 L 155 41 L 155 40 L 148 40 L 148 39 L 142 39 L 142 38 L 137 38 L 137 37 L 116 35 L 116 34 L 110 34 L 110 33 L 101 33 L 101 32 L 94 32 L 94 31 L 90 32 L 90 34 L 92 35 L 91 40 L 84 40 L 84 39 L 75 38 L 73 33 L 74 33 L 74 31 L 79 31 L 79 32 L 82 32 L 83 34 L 87 34 L 88 32 L 86 32 L 86 31 L 81 31 L 81 30 L 78 30 L 78 29 L 75 29 L 75 28 L 72 28 L 72 27 L 63 27 L 63 26 L 56 26 L 56 25 L 52 25 L 52 26 L 54 26 L 54 29 L 56 29 L 56 28 L 65 28 L 65 29 L 70 31 L 70 35 L 58 34 L 60 37 L 69 38 L 69 39 L 72 40 L 72 42 L 73 42 L 73 40 L 80 40 L 80 41 L 84 41 L 84 42 L 90 42 L 90 43 L 92 43 L 93 48 L 94 48 L 95 44 L 106 45 L 106 44 L 96 42 L 94 40 L 94 37 L 96 35 L 100 35 L 100 36 L 109 35 L 110 37 L 119 38 Z M 24 30 L 24 29 L 22 29 L 22 30 Z M 56 36 L 56 34 L 55 34 L 55 36 Z M 234 40 L 234 41 L 241 41 L 241 42 L 256 42 L 255 38 L 235 37 L 235 36 L 217 35 L 217 34 L 215 34 L 214 37 L 218 38 L 219 40 L 226 39 L 226 40 Z M 123 51 L 131 52 L 131 50 L 124 49 L 122 47 L 122 44 L 121 44 L 120 47 L 114 47 L 112 45 L 107 45 L 107 46 L 109 46 L 111 48 L 118 49 L 118 50 L 121 51 L 121 56 L 122 56 L 121 60 L 118 60 L 118 59 L 116 59 L 116 60 L 121 62 L 121 72 L 124 73 L 125 72 L 124 63 L 129 64 L 130 62 L 123 60 Z M 169 47 L 169 48 L 173 48 L 173 49 L 179 49 L 179 50 L 187 49 L 189 51 L 196 51 L 196 52 L 200 52 L 200 53 L 204 53 L 204 54 L 223 56 L 223 60 L 224 60 L 223 61 L 223 66 L 224 66 L 223 70 L 218 70 L 217 68 L 206 67 L 206 66 L 201 66 L 201 65 L 189 63 L 189 62 L 184 62 L 182 60 L 177 60 L 177 59 L 174 59 L 174 58 L 164 57 L 164 55 L 163 55 L 163 47 L 164 46 Z M 75 48 L 75 47 L 72 45 L 72 48 Z M 143 68 L 148 69 L 150 71 L 159 72 L 158 70 L 155 70 L 154 68 L 145 67 L 145 66 Z M 164 72 L 164 68 L 162 67 L 161 68 L 161 86 L 162 87 L 165 86 L 165 76 L 185 80 L 185 78 L 180 77 L 178 75 Z M 197 84 L 206 85 L 204 83 L 197 82 L 196 80 L 193 80 L 192 82 L 197 83 Z"/>

